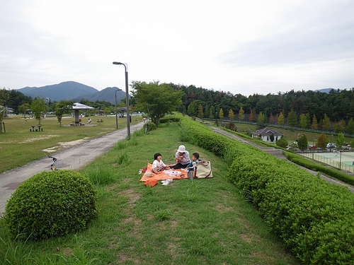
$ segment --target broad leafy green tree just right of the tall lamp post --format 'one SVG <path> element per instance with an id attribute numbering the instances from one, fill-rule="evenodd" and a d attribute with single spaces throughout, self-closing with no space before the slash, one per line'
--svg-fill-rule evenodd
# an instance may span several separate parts
<path id="1" fill-rule="evenodd" d="M 181 105 L 183 90 L 175 90 L 167 83 L 132 81 L 132 95 L 137 100 L 137 110 L 145 110 L 152 122 L 159 126 L 161 117 Z"/>

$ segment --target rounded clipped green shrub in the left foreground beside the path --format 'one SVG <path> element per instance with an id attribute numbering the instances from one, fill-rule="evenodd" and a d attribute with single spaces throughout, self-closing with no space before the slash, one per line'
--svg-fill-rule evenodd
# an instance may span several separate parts
<path id="1" fill-rule="evenodd" d="M 86 228 L 96 216 L 96 190 L 72 170 L 41 172 L 23 182 L 6 205 L 13 237 L 39 240 Z"/>

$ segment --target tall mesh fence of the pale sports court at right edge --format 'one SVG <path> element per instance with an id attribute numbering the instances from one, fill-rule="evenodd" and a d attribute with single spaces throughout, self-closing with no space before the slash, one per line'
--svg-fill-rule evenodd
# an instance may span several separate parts
<path id="1" fill-rule="evenodd" d="M 337 167 L 346 172 L 354 173 L 354 155 L 351 155 L 346 152 L 342 155 L 341 152 L 328 154 L 328 153 L 299 153 L 300 155 L 304 155 L 307 158 L 312 158 L 313 160 L 317 160 L 321 163 L 325 163 L 327 165 L 331 165 L 332 167 Z M 330 157 L 329 157 L 330 156 Z"/>

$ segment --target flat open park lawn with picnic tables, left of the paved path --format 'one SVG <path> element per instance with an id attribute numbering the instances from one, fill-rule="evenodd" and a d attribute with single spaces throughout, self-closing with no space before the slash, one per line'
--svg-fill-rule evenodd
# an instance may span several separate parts
<path id="1" fill-rule="evenodd" d="M 40 121 L 43 131 L 30 132 L 31 126 L 38 126 L 38 120 L 28 119 L 23 124 L 21 115 L 11 115 L 4 119 L 6 132 L 0 133 L 0 172 L 50 155 L 50 151 L 58 151 L 61 148 L 60 143 L 79 139 L 88 141 L 116 129 L 114 115 L 101 118 L 103 122 L 96 122 L 96 117 L 91 117 L 92 124 L 88 124 L 88 117 L 84 117 L 81 119 L 85 126 L 69 126 L 74 118 L 65 117 L 62 119 L 62 126 L 59 126 L 56 117 L 47 117 Z M 132 116 L 132 124 L 141 121 L 141 116 Z M 118 119 L 118 129 L 125 126 L 127 120 Z M 48 148 L 52 149 L 45 151 Z"/>

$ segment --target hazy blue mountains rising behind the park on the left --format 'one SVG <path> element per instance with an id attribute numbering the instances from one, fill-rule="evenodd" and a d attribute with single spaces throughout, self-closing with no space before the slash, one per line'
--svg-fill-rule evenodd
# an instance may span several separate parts
<path id="1" fill-rule="evenodd" d="M 62 82 L 55 85 L 41 86 L 41 87 L 29 87 L 18 89 L 23 95 L 30 96 L 31 98 L 49 98 L 51 102 L 60 100 L 73 100 L 74 102 L 79 102 L 81 100 L 89 100 L 91 102 L 105 101 L 115 104 L 115 91 L 120 88 L 105 88 L 101 91 L 93 88 L 91 86 L 86 86 L 81 83 L 74 81 Z M 130 97 L 130 95 L 129 95 Z M 117 92 L 117 102 L 125 99 L 125 92 L 119 90 Z"/>

